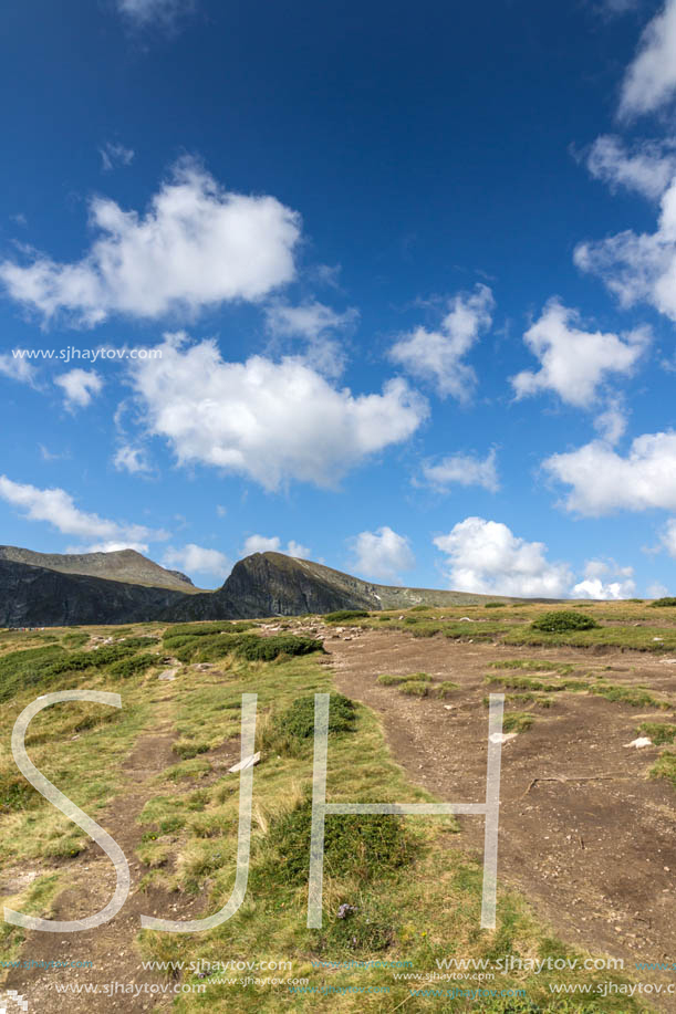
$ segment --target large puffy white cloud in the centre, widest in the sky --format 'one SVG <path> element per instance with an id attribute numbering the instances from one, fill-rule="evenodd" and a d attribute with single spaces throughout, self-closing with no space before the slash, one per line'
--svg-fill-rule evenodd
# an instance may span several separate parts
<path id="1" fill-rule="evenodd" d="M 162 359 L 134 365 L 147 429 L 169 441 L 180 463 L 248 475 L 269 490 L 293 479 L 334 487 L 427 415 L 402 379 L 354 396 L 298 358 L 226 363 L 212 341 L 184 346 L 185 335 L 168 335 Z"/>

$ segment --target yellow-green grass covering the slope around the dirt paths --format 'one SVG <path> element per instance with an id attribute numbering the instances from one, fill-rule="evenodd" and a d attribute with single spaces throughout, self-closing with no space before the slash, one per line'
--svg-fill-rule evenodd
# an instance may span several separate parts
<path id="1" fill-rule="evenodd" d="M 649 616 L 654 621 L 651 610 L 636 608 L 641 609 L 642 620 Z M 627 613 L 627 623 L 636 621 L 628 619 L 636 617 L 636 608 L 622 606 Z M 531 613 L 535 615 L 541 610 L 542 607 L 530 606 L 496 609 L 489 614 L 490 625 L 495 626 L 495 615 L 500 611 L 505 613 L 501 620 L 505 627 L 522 627 Z M 465 636 L 476 637 L 475 628 L 479 624 L 458 623 L 460 615 L 470 615 L 467 607 L 462 613 L 443 611 L 444 618 L 439 620 L 427 618 L 420 610 L 405 619 L 414 618 L 425 625 L 440 624 L 441 628 L 447 625 L 454 630 L 461 626 Z M 602 618 L 612 614 L 612 619 L 615 619 L 620 613 L 620 608 L 606 605 L 594 607 L 594 614 Z M 433 617 L 440 615 L 439 610 L 431 610 Z M 486 614 L 476 608 L 471 615 L 482 619 Z M 399 624 L 397 617 L 391 624 L 404 626 L 405 620 Z M 667 625 L 672 623 L 663 615 L 656 619 Z M 358 621 L 373 626 L 378 624 L 376 618 Z M 417 624 L 406 626 L 415 629 Z M 472 629 L 468 630 L 469 627 Z M 118 638 L 132 633 L 153 634 L 157 629 L 153 625 L 144 625 L 141 629 L 122 631 L 113 628 L 101 633 Z M 626 626 L 628 646 L 636 646 L 636 631 L 641 629 Z M 170 634 L 170 629 L 167 633 Z M 584 633 L 599 634 L 597 630 Z M 71 644 L 65 640 L 65 645 L 70 650 L 81 652 L 82 646 L 72 644 L 72 634 L 0 634 L 0 663 L 10 650 L 17 648 L 17 642 L 35 648 L 54 644 L 54 638 L 63 642 L 64 638 L 71 637 Z M 493 637 L 495 633 L 490 636 Z M 667 626 L 661 629 L 658 636 L 664 636 L 665 642 L 667 637 L 675 636 L 676 644 L 676 627 Z M 160 644 L 154 650 L 158 654 L 159 667 L 162 656 L 170 651 Z M 227 646 L 222 649 L 217 646 L 214 650 L 217 658 L 212 660 L 211 669 L 186 667 L 176 682 L 164 684 L 170 696 L 167 707 L 171 710 L 179 736 L 176 764 L 158 777 L 156 795 L 141 816 L 145 834 L 139 855 L 147 866 L 146 884 L 162 881 L 177 891 L 200 893 L 209 912 L 220 908 L 228 898 L 235 877 L 238 780 L 236 775 L 222 777 L 214 773 L 212 751 L 223 741 L 238 736 L 241 693 L 253 691 L 259 696 L 258 743 L 263 757 L 254 771 L 249 888 L 240 911 L 216 930 L 189 937 L 144 931 L 137 940 L 139 953 L 146 959 L 165 961 L 195 961 L 199 958 L 209 961 L 223 958 L 291 960 L 293 975 L 309 978 L 311 984 L 320 990 L 324 985 L 334 990 L 371 985 L 388 986 L 391 992 L 384 1002 L 383 996 L 377 994 L 334 992 L 329 996 L 318 993 L 292 995 L 285 986 L 242 987 L 211 982 L 206 995 L 186 995 L 177 1000 L 178 1012 L 188 1014 L 215 1006 L 222 1008 L 225 1004 L 236 1014 L 280 1008 L 376 1012 L 394 1010 L 403 1003 L 406 1011 L 477 1010 L 466 1000 L 409 997 L 410 986 L 396 983 L 391 971 L 323 971 L 313 968 L 312 961 L 408 960 L 414 971 L 436 971 L 435 959 L 454 954 L 498 958 L 512 953 L 534 958 L 572 953 L 569 948 L 552 940 L 548 928 L 538 924 L 523 899 L 514 895 L 500 895 L 496 931 L 479 929 L 480 857 L 477 859 L 460 849 L 448 848 L 449 836 L 455 841 L 461 840 L 456 837 L 457 828 L 449 818 L 386 818 L 379 826 L 383 845 L 378 846 L 377 853 L 364 851 L 363 841 L 368 832 L 360 827 L 363 828 L 366 822 L 383 818 L 329 818 L 327 840 L 331 839 L 335 850 L 332 853 L 329 848 L 326 857 L 324 926 L 322 930 L 308 930 L 306 875 L 304 868 L 299 872 L 299 863 L 302 857 L 306 863 L 305 801 L 311 783 L 312 745 L 310 740 L 294 739 L 289 733 L 284 712 L 300 697 L 331 690 L 330 670 L 320 666 L 315 656 L 251 662 L 231 652 L 226 654 Z M 138 647 L 138 654 L 147 651 L 147 646 Z M 500 675 L 509 677 L 510 673 Z M 38 693 L 54 689 L 83 686 L 123 694 L 122 712 L 74 703 L 52 708 L 34 720 L 28 738 L 29 753 L 38 766 L 96 818 L 116 794 L 124 793 L 118 776 L 119 763 L 138 735 L 153 728 L 156 676 L 157 669 L 153 668 L 126 679 L 113 677 L 106 668 L 81 670 L 71 676 L 61 673 L 56 679 L 49 679 L 44 684 L 19 693 L 2 708 L 0 834 L 3 849 L 0 861 L 3 868 L 13 870 L 24 866 L 35 868 L 37 863 L 42 863 L 42 876 L 23 892 L 7 899 L 11 907 L 27 910 L 30 907 L 33 911 L 49 914 L 50 902 L 59 886 L 65 886 L 67 877 L 67 871 L 50 868 L 50 857 L 74 855 L 83 845 L 80 833 L 65 818 L 30 787 L 27 790 L 25 783 L 21 785 L 22 778 L 9 754 L 11 726 L 17 714 Z M 424 682 L 419 679 L 420 675 L 417 676 L 418 682 Z M 375 717 L 367 709 L 357 707 L 354 729 L 330 738 L 327 798 L 420 802 L 433 797 L 407 783 L 387 753 Z M 332 856 L 335 859 L 333 863 Z M 345 920 L 336 916 L 342 903 L 356 908 L 356 912 Z M 2 933 L 3 951 L 15 952 L 21 947 L 21 931 L 4 926 Z M 584 1011 L 590 1014 L 594 1011 L 617 1011 L 617 997 L 599 999 L 591 1005 L 569 1000 L 568 1005 L 557 1006 L 552 1005 L 548 992 L 550 979 L 557 982 L 566 979 L 570 982 L 591 982 L 614 978 L 609 972 L 597 973 L 595 979 L 592 973 L 566 976 L 562 972 L 498 978 L 489 984 L 492 989 L 526 989 L 531 1000 L 542 1006 L 502 1000 L 496 1003 L 482 1001 L 481 1010 L 514 1014 L 538 1010 Z M 638 1010 L 642 1010 L 638 1004 L 623 999 L 622 1011 Z"/>

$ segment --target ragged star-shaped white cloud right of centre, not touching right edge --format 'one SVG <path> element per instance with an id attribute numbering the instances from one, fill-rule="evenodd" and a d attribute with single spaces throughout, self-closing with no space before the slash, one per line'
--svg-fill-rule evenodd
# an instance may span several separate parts
<path id="1" fill-rule="evenodd" d="M 538 373 L 522 370 L 511 378 L 518 398 L 552 390 L 569 405 L 589 407 L 606 374 L 630 374 L 649 341 L 649 330 L 637 327 L 623 337 L 575 326 L 580 315 L 557 299 L 549 301 L 523 341 L 541 363 Z"/>

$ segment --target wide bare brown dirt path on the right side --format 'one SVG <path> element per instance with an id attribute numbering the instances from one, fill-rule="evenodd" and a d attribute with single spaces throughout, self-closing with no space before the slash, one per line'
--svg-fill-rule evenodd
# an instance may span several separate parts
<path id="1" fill-rule="evenodd" d="M 639 652 L 592 655 L 355 630 L 329 638 L 326 647 L 339 689 L 381 717 L 409 777 L 448 802 L 482 802 L 486 792 L 488 709 L 481 700 L 492 660 L 611 666 L 604 676 L 615 683 L 676 691 L 676 665 Z M 376 681 L 382 672 L 415 671 L 460 689 L 441 701 L 405 697 Z M 518 887 L 562 938 L 622 956 L 627 970 L 635 960 L 674 960 L 676 795 L 667 782 L 646 781 L 656 748 L 624 746 L 641 721 L 667 715 L 586 694 L 552 698 L 548 710 L 529 709 L 534 725 L 502 751 L 499 880 Z M 578 781 L 600 775 L 609 777 Z M 552 777 L 566 781 L 533 783 Z M 482 849 L 483 820 L 460 820 L 457 844 Z"/>

